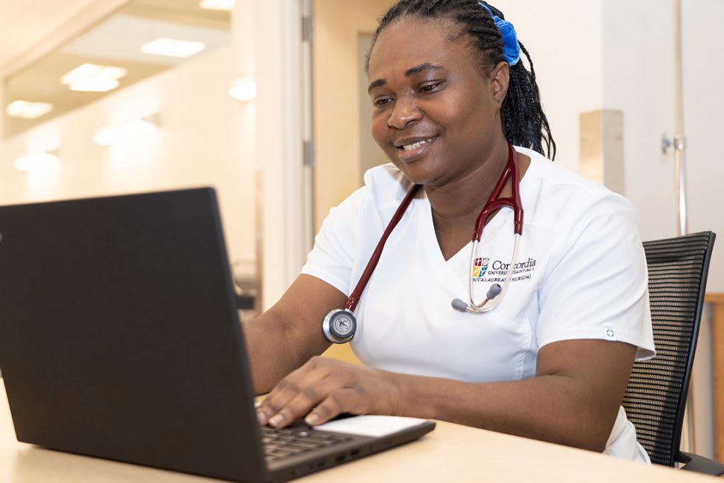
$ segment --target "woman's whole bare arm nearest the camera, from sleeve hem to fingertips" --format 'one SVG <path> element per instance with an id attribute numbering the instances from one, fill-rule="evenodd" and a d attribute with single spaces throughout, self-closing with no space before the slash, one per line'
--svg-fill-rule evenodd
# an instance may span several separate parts
<path id="1" fill-rule="evenodd" d="M 277 427 L 340 413 L 441 419 L 602 451 L 618 415 L 636 347 L 606 340 L 545 345 L 536 376 L 460 382 L 312 358 L 287 375 L 258 408 Z"/>

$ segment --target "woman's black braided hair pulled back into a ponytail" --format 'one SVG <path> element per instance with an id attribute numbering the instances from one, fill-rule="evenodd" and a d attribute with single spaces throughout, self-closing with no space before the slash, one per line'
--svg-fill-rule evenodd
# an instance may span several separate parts
<path id="1" fill-rule="evenodd" d="M 502 12 L 486 4 L 494 15 L 505 19 Z M 372 46 L 380 33 L 392 22 L 404 17 L 416 16 L 421 19 L 450 19 L 460 28 L 451 33 L 451 40 L 458 40 L 463 35 L 473 39 L 479 53 L 479 63 L 484 72 L 505 62 L 502 54 L 502 35 L 486 9 L 477 0 L 400 0 L 392 6 L 382 19 L 372 38 Z M 528 59 L 530 71 L 523 62 L 510 66 L 510 83 L 508 93 L 500 107 L 502 130 L 505 138 L 516 146 L 531 148 L 555 159 L 555 141 L 550 133 L 548 119 L 543 112 L 536 73 L 528 50 L 518 42 L 521 51 Z M 372 47 L 370 48 L 371 51 Z M 369 55 L 367 58 L 369 67 Z M 543 146 L 545 145 L 545 151 Z"/>

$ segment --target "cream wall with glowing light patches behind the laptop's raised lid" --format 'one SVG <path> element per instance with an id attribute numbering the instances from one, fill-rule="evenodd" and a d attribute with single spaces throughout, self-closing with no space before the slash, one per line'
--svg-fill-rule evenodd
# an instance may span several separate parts
<path id="1" fill-rule="evenodd" d="M 201 54 L 75 112 L 0 143 L 0 203 L 211 185 L 219 195 L 230 259 L 254 256 L 253 103 L 227 95 L 232 46 Z M 159 112 L 155 135 L 112 148 L 98 127 Z M 21 172 L 14 160 L 59 149 L 55 172 Z"/>

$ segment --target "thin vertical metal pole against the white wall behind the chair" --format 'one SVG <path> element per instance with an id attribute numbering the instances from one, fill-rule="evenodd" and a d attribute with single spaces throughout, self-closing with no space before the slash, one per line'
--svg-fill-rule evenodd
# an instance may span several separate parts
<path id="1" fill-rule="evenodd" d="M 678 203 L 679 236 L 689 232 L 686 220 L 686 137 L 683 135 L 683 81 L 681 69 L 681 0 L 674 0 L 674 169 L 676 175 L 676 201 Z M 686 398 L 686 429 L 689 433 L 689 448 L 696 453 L 694 438 L 694 384 L 689 382 Z"/>

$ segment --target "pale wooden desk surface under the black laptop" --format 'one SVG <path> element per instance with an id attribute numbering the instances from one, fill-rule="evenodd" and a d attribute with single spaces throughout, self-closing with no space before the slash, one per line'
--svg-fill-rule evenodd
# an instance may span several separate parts
<path id="1" fill-rule="evenodd" d="M 0 482 L 210 482 L 17 442 L 0 383 Z M 712 482 L 710 476 L 620 461 L 521 437 L 439 422 L 420 440 L 295 480 L 394 482 Z"/>

